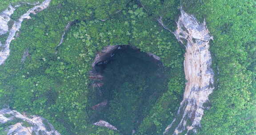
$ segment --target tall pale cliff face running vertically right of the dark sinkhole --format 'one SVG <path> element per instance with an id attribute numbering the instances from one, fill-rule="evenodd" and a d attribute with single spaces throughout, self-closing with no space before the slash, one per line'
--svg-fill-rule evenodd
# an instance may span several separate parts
<path id="1" fill-rule="evenodd" d="M 205 22 L 200 24 L 194 16 L 181 9 L 177 25 L 173 34 L 186 47 L 184 72 L 188 82 L 177 117 L 165 129 L 164 135 L 196 132 L 195 127 L 200 127 L 200 120 L 206 109 L 203 104 L 208 102 L 208 95 L 214 89 L 212 58 L 208 50 L 212 36 Z"/>

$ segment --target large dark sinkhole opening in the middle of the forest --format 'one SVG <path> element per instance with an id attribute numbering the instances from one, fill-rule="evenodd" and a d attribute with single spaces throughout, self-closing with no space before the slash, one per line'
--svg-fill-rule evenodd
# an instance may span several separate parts
<path id="1" fill-rule="evenodd" d="M 104 120 L 132 135 L 167 90 L 170 69 L 157 56 L 129 45 L 108 46 L 92 67 L 92 122 Z"/>

